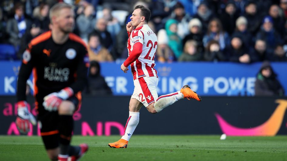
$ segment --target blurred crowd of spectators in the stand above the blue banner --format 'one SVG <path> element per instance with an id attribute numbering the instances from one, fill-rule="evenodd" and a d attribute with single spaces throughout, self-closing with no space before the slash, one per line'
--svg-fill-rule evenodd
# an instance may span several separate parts
<path id="1" fill-rule="evenodd" d="M 0 45 L 13 46 L 13 60 L 49 30 L 57 2 L 75 6 L 73 32 L 87 43 L 90 61 L 128 57 L 126 23 L 141 4 L 152 13 L 156 61 L 287 62 L 287 0 L 2 0 Z"/>

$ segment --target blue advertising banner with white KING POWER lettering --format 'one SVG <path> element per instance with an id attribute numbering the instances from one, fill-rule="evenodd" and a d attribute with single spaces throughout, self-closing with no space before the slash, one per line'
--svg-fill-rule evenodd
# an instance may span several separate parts
<path id="1" fill-rule="evenodd" d="M 121 71 L 118 63 L 101 63 L 101 74 L 114 95 L 131 96 L 134 85 L 131 70 Z M 287 63 L 271 63 L 278 80 L 287 90 Z M 189 84 L 202 96 L 253 96 L 256 74 L 261 63 L 156 63 L 158 94 L 168 94 Z M 15 95 L 20 61 L 0 61 L 0 95 Z M 32 84 L 32 77 L 28 80 Z M 285 93 L 286 95 L 286 93 Z"/>

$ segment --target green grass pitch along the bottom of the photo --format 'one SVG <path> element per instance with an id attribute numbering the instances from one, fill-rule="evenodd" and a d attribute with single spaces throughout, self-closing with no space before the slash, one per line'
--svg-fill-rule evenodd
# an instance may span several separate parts
<path id="1" fill-rule="evenodd" d="M 127 149 L 108 143 L 120 136 L 73 136 L 88 143 L 84 160 L 287 160 L 287 136 L 231 137 L 214 135 L 133 135 Z M 0 136 L 0 160 L 49 160 L 38 136 Z"/>

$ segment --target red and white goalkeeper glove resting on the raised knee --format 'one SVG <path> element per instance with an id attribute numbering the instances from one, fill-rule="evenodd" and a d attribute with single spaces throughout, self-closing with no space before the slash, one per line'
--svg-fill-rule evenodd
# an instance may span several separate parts
<path id="1" fill-rule="evenodd" d="M 44 97 L 43 106 L 47 111 L 56 111 L 63 100 L 67 100 L 73 96 L 72 88 L 66 87 L 59 92 L 53 92 Z"/>

